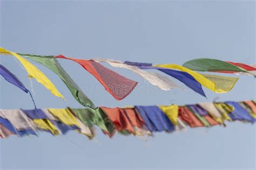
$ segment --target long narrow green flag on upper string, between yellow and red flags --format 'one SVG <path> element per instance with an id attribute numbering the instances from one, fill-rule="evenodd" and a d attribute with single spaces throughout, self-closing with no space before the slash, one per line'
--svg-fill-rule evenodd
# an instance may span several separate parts
<path id="1" fill-rule="evenodd" d="M 77 86 L 77 84 L 71 79 L 68 73 L 63 69 L 60 63 L 53 56 L 38 56 L 21 54 L 26 58 L 32 59 L 41 65 L 49 68 L 52 72 L 57 74 L 60 79 L 65 83 L 66 87 L 70 90 L 73 97 L 84 107 L 90 107 L 96 109 L 92 101 L 83 93 L 83 91 Z"/>

